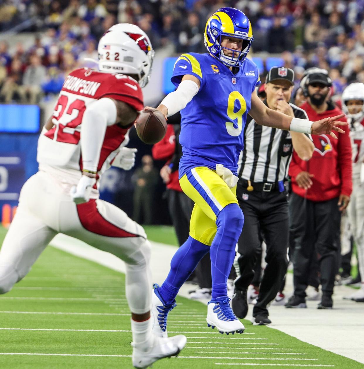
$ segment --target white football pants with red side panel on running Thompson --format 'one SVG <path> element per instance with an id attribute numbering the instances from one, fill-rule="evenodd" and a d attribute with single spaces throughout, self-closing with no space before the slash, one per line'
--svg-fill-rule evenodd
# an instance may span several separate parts
<path id="1" fill-rule="evenodd" d="M 118 207 L 103 200 L 77 205 L 70 184 L 39 171 L 25 182 L 19 206 L 0 250 L 0 293 L 24 278 L 41 252 L 63 233 L 126 263 L 126 297 L 132 313 L 151 303 L 151 246 L 143 228 Z"/>

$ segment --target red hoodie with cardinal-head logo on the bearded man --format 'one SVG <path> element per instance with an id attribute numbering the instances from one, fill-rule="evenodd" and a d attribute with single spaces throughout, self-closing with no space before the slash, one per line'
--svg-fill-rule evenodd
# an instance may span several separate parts
<path id="1" fill-rule="evenodd" d="M 304 103 L 301 108 L 306 111 L 311 121 L 342 114 L 342 111 L 332 104 L 329 105 L 330 110 L 323 113 L 316 113 L 309 103 Z M 340 120 L 346 122 L 346 118 Z M 315 150 L 309 161 L 303 161 L 296 152 L 293 152 L 288 174 L 292 179 L 294 193 L 311 201 L 327 201 L 340 194 L 350 196 L 353 184 L 349 128 L 340 128 L 345 134 L 336 133 L 337 140 L 330 135 L 312 135 Z M 296 176 L 302 171 L 314 175 L 311 178 L 313 184 L 308 190 L 299 187 L 296 182 Z"/>

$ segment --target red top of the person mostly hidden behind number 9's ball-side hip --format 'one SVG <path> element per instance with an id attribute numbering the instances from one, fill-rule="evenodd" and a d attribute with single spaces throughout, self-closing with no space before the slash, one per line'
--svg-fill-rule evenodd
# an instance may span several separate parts
<path id="1" fill-rule="evenodd" d="M 176 136 L 172 124 L 167 124 L 167 131 L 164 138 L 157 142 L 152 148 L 153 159 L 166 160 L 167 165 L 172 159 L 176 149 Z M 167 188 L 175 191 L 182 192 L 178 179 L 178 170 L 175 170 L 169 176 L 169 182 Z"/>

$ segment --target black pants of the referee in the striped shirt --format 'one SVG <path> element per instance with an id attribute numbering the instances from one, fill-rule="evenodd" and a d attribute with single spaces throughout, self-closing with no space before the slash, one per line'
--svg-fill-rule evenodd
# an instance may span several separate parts
<path id="1" fill-rule="evenodd" d="M 248 196 L 246 200 L 243 200 Z M 287 269 L 288 202 L 286 192 L 249 192 L 237 187 L 237 198 L 244 214 L 244 226 L 238 240 L 237 262 L 240 276 L 235 281 L 237 289 L 249 286 L 254 277 L 254 266 L 261 247 L 260 232 L 267 244 L 267 266 L 260 284 L 253 316 L 268 315 L 267 304 L 281 287 Z"/>

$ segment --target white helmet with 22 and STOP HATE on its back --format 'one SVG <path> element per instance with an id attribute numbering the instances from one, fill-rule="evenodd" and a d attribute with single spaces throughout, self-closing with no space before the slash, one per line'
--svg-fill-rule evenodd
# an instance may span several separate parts
<path id="1" fill-rule="evenodd" d="M 138 76 L 140 87 L 147 85 L 154 50 L 147 34 L 137 25 L 119 23 L 113 25 L 100 38 L 99 70 Z"/>

